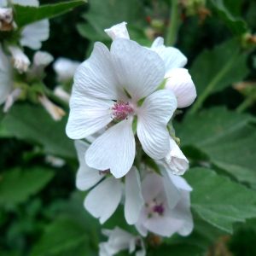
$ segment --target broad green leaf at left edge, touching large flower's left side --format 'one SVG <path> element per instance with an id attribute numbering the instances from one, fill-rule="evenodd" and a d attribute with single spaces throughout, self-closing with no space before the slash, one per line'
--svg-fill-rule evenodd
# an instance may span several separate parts
<path id="1" fill-rule="evenodd" d="M 65 133 L 66 124 L 67 117 L 55 121 L 39 106 L 15 104 L 3 118 L 0 131 L 8 131 L 9 137 L 38 143 L 46 154 L 76 158 L 73 141 Z"/>

